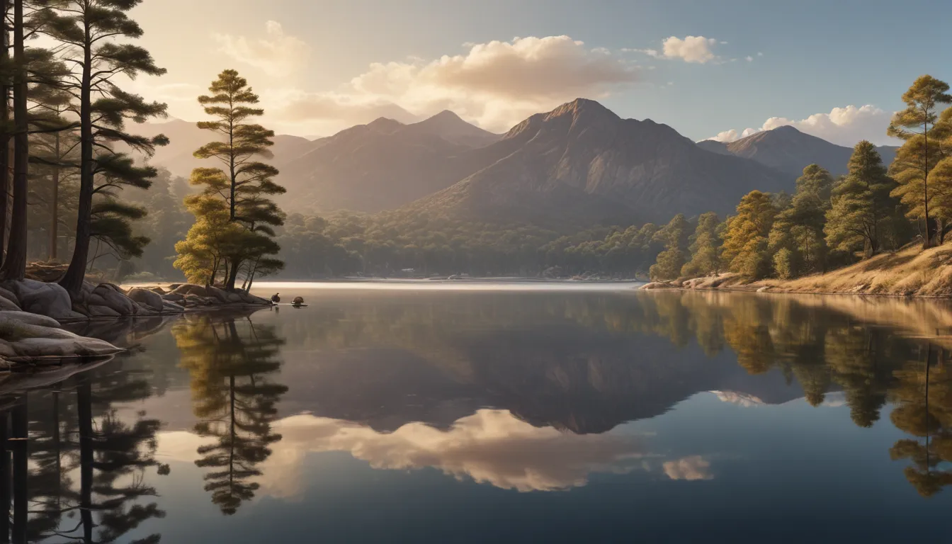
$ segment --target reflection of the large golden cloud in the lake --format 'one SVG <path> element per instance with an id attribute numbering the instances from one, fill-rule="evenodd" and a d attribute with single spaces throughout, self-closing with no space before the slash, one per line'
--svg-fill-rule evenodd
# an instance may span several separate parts
<path id="1" fill-rule="evenodd" d="M 638 436 L 623 433 L 572 434 L 533 427 L 506 410 L 480 410 L 460 418 L 448 431 L 410 423 L 392 433 L 340 419 L 301 414 L 276 421 L 282 439 L 259 467 L 262 494 L 303 496 L 307 453 L 346 452 L 374 469 L 434 468 L 456 478 L 517 490 L 562 491 L 585 486 L 589 473 L 628 473 L 646 457 Z M 183 461 L 195 459 L 203 439 L 188 433 L 160 433 L 160 451 Z M 176 445 L 174 442 L 181 442 Z"/>

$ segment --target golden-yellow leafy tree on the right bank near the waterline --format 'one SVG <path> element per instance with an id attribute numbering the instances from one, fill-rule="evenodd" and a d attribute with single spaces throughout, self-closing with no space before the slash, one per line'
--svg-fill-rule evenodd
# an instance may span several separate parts
<path id="1" fill-rule="evenodd" d="M 777 209 L 770 194 L 750 191 L 737 206 L 737 215 L 727 219 L 721 258 L 730 272 L 748 279 L 764 277 L 770 271 L 767 240 Z"/>

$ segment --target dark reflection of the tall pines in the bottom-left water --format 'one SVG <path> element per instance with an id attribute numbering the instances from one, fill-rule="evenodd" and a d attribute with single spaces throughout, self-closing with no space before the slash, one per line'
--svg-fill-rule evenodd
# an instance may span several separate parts
<path id="1" fill-rule="evenodd" d="M 142 523 L 165 516 L 149 484 L 169 471 L 155 459 L 161 424 L 115 407 L 150 394 L 148 374 L 123 369 L 128 360 L 0 397 L 0 434 L 12 438 L 0 450 L 0 500 L 12 511 L 0 540 L 125 542 Z M 133 542 L 159 540 L 149 534 Z"/>

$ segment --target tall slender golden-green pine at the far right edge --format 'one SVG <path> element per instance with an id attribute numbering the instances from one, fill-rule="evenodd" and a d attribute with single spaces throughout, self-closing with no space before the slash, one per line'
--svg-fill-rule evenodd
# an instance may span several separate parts
<path id="1" fill-rule="evenodd" d="M 886 131 L 890 136 L 905 140 L 890 169 L 899 187 L 892 195 L 900 198 L 910 218 L 922 220 L 922 249 L 931 246 L 933 227 L 929 207 L 934 193 L 930 192 L 929 172 L 939 162 L 938 146 L 929 141 L 929 132 L 935 127 L 942 104 L 952 103 L 949 86 L 931 75 L 922 75 L 902 94 L 906 109 L 898 111 Z"/>

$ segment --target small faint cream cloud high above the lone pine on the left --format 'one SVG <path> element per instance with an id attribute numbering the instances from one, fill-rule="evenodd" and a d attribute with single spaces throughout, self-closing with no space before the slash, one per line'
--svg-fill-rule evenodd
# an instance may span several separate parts
<path id="1" fill-rule="evenodd" d="M 218 50 L 234 60 L 278 77 L 300 70 L 310 51 L 304 40 L 286 34 L 275 21 L 265 23 L 263 38 L 249 39 L 217 32 L 211 37 L 218 42 Z"/>

